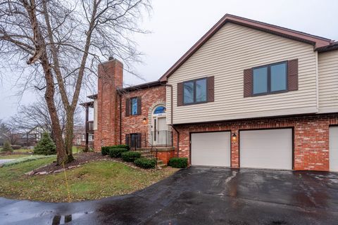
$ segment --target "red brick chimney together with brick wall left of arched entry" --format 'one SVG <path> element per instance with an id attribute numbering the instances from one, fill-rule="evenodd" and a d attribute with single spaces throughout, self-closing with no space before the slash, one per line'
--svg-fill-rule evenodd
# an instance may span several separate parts
<path id="1" fill-rule="evenodd" d="M 118 92 L 123 86 L 123 64 L 109 60 L 99 65 L 97 94 L 97 129 L 94 130 L 94 149 L 125 143 L 125 135 L 141 133 L 142 140 L 149 141 L 151 113 L 157 105 L 165 105 L 165 86 Z M 141 115 L 125 115 L 127 98 L 142 98 Z M 121 101 L 121 102 L 120 102 Z M 120 112 L 120 104 L 122 111 Z M 122 122 L 120 122 L 120 115 Z M 146 123 L 144 123 L 146 118 Z M 120 130 L 122 132 L 120 133 Z"/>

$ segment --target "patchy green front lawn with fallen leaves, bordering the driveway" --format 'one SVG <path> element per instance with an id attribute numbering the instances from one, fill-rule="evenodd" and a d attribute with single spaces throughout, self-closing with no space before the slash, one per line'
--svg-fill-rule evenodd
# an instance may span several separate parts
<path id="1" fill-rule="evenodd" d="M 26 172 L 51 163 L 54 158 L 23 162 L 0 168 L 0 197 L 67 202 L 64 173 L 25 176 Z M 93 200 L 132 193 L 170 176 L 177 169 L 134 169 L 119 162 L 89 162 L 66 171 L 70 200 Z"/>

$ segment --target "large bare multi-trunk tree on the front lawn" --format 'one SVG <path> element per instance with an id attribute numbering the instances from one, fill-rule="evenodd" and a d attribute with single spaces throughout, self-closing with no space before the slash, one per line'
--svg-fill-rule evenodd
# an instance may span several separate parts
<path id="1" fill-rule="evenodd" d="M 44 91 L 58 164 L 73 160 L 73 119 L 81 87 L 96 74 L 100 58 L 117 57 L 132 74 L 139 61 L 130 37 L 144 33 L 138 22 L 150 0 L 3 0 L 0 3 L 0 57 L 29 71 L 24 88 Z M 29 65 L 24 66 L 23 61 Z M 9 63 L 10 64 L 10 63 Z M 54 103 L 65 109 L 65 139 Z"/>

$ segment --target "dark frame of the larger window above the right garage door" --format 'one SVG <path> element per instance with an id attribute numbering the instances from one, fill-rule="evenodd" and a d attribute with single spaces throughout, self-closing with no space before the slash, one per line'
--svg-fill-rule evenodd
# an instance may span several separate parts
<path id="1" fill-rule="evenodd" d="M 285 63 L 285 90 L 280 90 L 280 91 L 271 91 L 271 66 L 273 65 L 278 65 L 278 64 L 282 64 L 282 63 Z M 253 93 L 253 70 L 255 69 L 259 69 L 259 68 L 268 68 L 268 74 L 267 74 L 267 91 L 266 92 L 263 92 L 263 93 L 258 93 L 258 94 L 254 94 Z M 257 66 L 255 68 L 251 68 L 251 96 L 265 96 L 265 95 L 268 95 L 268 94 L 280 94 L 280 93 L 285 93 L 285 92 L 288 92 L 289 91 L 289 86 L 288 86 L 288 77 L 289 77 L 289 71 L 288 71 L 288 61 L 285 60 L 285 61 L 282 61 L 282 62 L 278 62 L 278 63 L 270 63 L 270 64 L 266 64 L 266 65 L 260 65 L 260 66 Z"/>

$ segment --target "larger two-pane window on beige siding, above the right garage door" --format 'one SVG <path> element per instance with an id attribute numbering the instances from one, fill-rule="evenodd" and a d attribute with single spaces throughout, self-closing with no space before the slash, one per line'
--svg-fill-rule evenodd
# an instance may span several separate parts
<path id="1" fill-rule="evenodd" d="M 287 62 L 252 68 L 252 94 L 287 91 Z"/>

